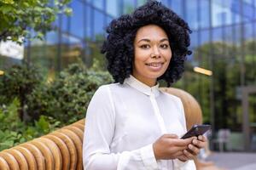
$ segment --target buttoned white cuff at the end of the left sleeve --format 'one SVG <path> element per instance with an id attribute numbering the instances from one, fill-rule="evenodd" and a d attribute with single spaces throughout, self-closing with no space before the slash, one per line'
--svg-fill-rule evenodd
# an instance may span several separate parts
<path id="1" fill-rule="evenodd" d="M 153 144 L 148 144 L 141 148 L 141 156 L 143 159 L 143 164 L 147 169 L 157 169 L 158 164 L 154 157 Z"/>

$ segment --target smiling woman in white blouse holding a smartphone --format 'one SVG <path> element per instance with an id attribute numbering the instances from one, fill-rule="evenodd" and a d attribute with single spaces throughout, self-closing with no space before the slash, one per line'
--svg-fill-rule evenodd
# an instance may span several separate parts
<path id="1" fill-rule="evenodd" d="M 102 53 L 115 83 L 100 87 L 85 120 L 83 161 L 89 169 L 195 169 L 206 144 L 187 131 L 183 105 L 159 90 L 181 77 L 191 54 L 189 26 L 157 1 L 113 20 Z"/>

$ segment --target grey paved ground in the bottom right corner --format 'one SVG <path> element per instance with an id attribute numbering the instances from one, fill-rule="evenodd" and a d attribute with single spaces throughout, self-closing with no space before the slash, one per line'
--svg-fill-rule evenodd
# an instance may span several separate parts
<path id="1" fill-rule="evenodd" d="M 212 152 L 206 161 L 225 170 L 256 170 L 256 153 Z"/>

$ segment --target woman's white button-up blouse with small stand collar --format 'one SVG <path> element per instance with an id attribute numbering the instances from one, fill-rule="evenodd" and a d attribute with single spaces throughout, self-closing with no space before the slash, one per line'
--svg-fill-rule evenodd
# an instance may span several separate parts
<path id="1" fill-rule="evenodd" d="M 186 130 L 179 98 L 135 77 L 98 88 L 88 106 L 83 161 L 85 170 L 195 169 L 194 161 L 154 158 L 153 143 L 165 133 Z"/>

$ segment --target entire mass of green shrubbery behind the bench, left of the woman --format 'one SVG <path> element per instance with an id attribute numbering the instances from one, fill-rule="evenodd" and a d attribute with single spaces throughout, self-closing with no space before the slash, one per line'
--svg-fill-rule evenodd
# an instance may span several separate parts
<path id="1" fill-rule="evenodd" d="M 50 83 L 39 72 L 15 65 L 0 77 L 0 150 L 84 118 L 96 89 L 113 82 L 108 72 L 83 64 L 70 65 Z"/>

